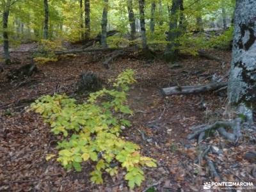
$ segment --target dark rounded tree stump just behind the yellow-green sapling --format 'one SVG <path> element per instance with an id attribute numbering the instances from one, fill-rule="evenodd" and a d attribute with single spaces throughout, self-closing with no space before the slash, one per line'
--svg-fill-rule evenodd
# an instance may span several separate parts
<path id="1" fill-rule="evenodd" d="M 77 93 L 96 92 L 102 88 L 102 81 L 93 72 L 83 72 L 77 82 Z"/>

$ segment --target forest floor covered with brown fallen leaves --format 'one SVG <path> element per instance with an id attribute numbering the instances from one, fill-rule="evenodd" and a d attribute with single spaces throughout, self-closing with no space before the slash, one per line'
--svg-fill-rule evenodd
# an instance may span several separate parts
<path id="1" fill-rule="evenodd" d="M 122 173 L 112 180 L 104 175 L 104 184 L 90 182 L 92 164 L 83 164 L 80 173 L 65 171 L 46 154 L 56 153 L 56 137 L 44 124 L 40 115 L 26 112 L 31 100 L 52 93 L 72 94 L 79 75 L 95 72 L 103 81 L 116 77 L 126 68 L 136 72 L 138 81 L 129 92 L 129 105 L 134 116 L 132 127 L 122 135 L 141 147 L 141 153 L 157 160 L 157 168 L 145 170 L 145 182 L 134 191 L 156 188 L 156 191 L 203 191 L 204 182 L 214 180 L 203 160 L 198 159 L 198 144 L 188 141 L 189 127 L 221 120 L 225 116 L 225 93 L 175 95 L 163 97 L 160 88 L 176 85 L 209 83 L 212 75 L 223 77 L 229 70 L 230 51 L 210 51 L 219 62 L 188 56 L 180 58 L 180 68 L 170 68 L 161 60 L 143 60 L 138 54 L 118 58 L 107 70 L 102 65 L 104 55 L 84 54 L 75 58 L 40 65 L 40 72 L 20 81 L 0 79 L 0 191 L 129 191 Z M 4 68 L 28 64 L 29 54 L 12 53 L 20 63 Z M 227 78 L 225 79 L 227 80 Z M 244 154 L 255 150 L 256 133 L 247 131 L 238 145 L 215 137 L 204 145 L 212 145 L 220 152 L 209 154 L 221 181 L 254 181 L 255 159 L 248 161 Z M 253 176 L 254 175 L 254 176 Z M 255 183 L 256 184 L 256 183 Z M 150 188 L 150 186 L 152 188 Z"/>

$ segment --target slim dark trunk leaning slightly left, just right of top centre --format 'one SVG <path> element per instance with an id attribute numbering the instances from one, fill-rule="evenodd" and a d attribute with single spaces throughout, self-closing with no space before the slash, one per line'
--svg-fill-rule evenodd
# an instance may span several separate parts
<path id="1" fill-rule="evenodd" d="M 145 27 L 145 13 L 144 13 L 145 0 L 139 0 L 140 9 L 140 29 L 142 38 L 142 48 L 144 52 L 148 51 L 146 27 Z"/>

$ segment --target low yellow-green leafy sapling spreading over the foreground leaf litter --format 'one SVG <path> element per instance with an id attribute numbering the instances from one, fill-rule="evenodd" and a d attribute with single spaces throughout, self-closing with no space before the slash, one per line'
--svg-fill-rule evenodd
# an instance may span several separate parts
<path id="1" fill-rule="evenodd" d="M 114 176 L 124 168 L 125 180 L 134 188 L 145 179 L 143 166 L 156 167 L 154 159 L 141 156 L 138 145 L 119 137 L 124 127 L 131 126 L 124 116 L 132 115 L 125 103 L 129 85 L 135 82 L 133 76 L 132 70 L 125 70 L 113 82 L 112 90 L 91 93 L 83 104 L 66 95 L 46 95 L 31 104 L 31 109 L 51 125 L 51 132 L 63 134 L 57 161 L 65 168 L 80 172 L 83 161 L 95 162 L 90 175 L 96 184 L 102 184 L 103 172 Z"/>

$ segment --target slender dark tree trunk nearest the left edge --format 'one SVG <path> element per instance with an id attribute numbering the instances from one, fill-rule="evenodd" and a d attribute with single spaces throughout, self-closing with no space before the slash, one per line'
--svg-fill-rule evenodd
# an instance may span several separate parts
<path id="1" fill-rule="evenodd" d="M 9 39 L 8 39 L 8 19 L 10 13 L 11 0 L 7 0 L 3 12 L 3 40 L 4 40 L 4 61 L 6 65 L 11 63 L 10 52 L 9 52 Z"/>

